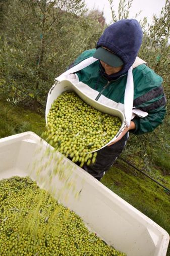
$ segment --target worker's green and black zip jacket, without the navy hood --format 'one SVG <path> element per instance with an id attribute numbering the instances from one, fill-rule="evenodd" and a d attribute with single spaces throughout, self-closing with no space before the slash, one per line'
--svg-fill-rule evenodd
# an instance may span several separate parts
<path id="1" fill-rule="evenodd" d="M 83 52 L 73 65 L 91 57 L 96 49 Z M 124 104 L 124 93 L 126 88 L 127 74 L 117 80 L 108 81 L 101 75 L 99 61 L 76 72 L 79 80 L 86 83 L 92 89 L 98 91 L 105 97 Z M 144 134 L 152 132 L 165 115 L 166 98 L 161 86 L 162 78 L 145 64 L 141 64 L 133 69 L 134 79 L 134 102 L 133 106 L 148 113 L 148 116 L 141 118 L 135 116 L 133 121 L 136 124 L 134 134 Z M 98 97 L 100 97 L 100 94 Z"/>

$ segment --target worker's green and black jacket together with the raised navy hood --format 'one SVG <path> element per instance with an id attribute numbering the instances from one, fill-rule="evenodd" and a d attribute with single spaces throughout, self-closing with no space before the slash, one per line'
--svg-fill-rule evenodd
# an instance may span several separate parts
<path id="1" fill-rule="evenodd" d="M 108 99 L 124 104 L 124 94 L 128 69 L 135 62 L 142 42 L 142 29 L 133 19 L 118 21 L 107 27 L 97 42 L 97 47 L 106 47 L 117 54 L 123 61 L 122 70 L 116 74 L 107 75 L 100 61 L 76 72 L 79 81 L 86 83 L 93 90 L 98 91 L 98 97 L 104 95 Z M 93 56 L 96 49 L 87 50 L 74 62 L 74 65 Z M 161 86 L 162 78 L 145 64 L 133 69 L 134 102 L 133 106 L 145 112 L 148 116 L 136 116 L 134 134 L 152 132 L 165 115 L 165 96 Z"/>

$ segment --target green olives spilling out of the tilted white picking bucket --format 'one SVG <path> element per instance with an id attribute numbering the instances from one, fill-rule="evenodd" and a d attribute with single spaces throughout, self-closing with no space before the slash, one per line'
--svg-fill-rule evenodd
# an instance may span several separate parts
<path id="1" fill-rule="evenodd" d="M 118 133 L 121 121 L 94 109 L 74 92 L 64 92 L 47 115 L 46 141 L 73 162 L 93 164 L 97 152 Z"/>

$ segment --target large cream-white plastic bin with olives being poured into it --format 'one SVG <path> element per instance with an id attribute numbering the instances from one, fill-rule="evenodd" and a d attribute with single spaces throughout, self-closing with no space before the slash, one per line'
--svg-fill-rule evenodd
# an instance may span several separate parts
<path id="1" fill-rule="evenodd" d="M 0 139 L 0 179 L 29 175 L 41 188 L 49 190 L 48 176 L 44 176 L 46 178 L 41 182 L 34 164 L 35 160 L 39 163 L 45 161 L 43 154 L 47 147 L 51 148 L 32 132 Z M 59 152 L 56 155 L 63 157 Z M 50 154 L 46 157 L 49 158 Z M 56 188 L 54 196 L 74 210 L 91 230 L 128 256 L 166 255 L 169 235 L 164 229 L 69 159 L 63 157 L 62 161 L 66 177 L 68 166 L 72 166 L 70 179 L 75 180 L 75 191 L 81 193 L 76 199 L 56 175 L 52 180 L 52 186 Z M 45 168 L 43 172 L 45 175 Z M 62 196 L 61 190 L 67 196 Z"/>

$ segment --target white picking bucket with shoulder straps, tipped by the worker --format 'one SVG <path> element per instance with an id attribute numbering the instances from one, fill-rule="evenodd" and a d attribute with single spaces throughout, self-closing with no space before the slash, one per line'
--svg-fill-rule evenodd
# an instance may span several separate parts
<path id="1" fill-rule="evenodd" d="M 117 135 L 109 143 L 103 146 L 105 147 L 111 142 L 115 141 L 121 135 L 126 125 L 127 126 L 130 125 L 130 121 L 131 119 L 134 118 L 135 115 L 139 115 L 140 117 L 145 117 L 146 115 L 148 115 L 148 113 L 146 112 L 133 108 L 134 84 L 133 84 L 132 68 L 146 62 L 144 62 L 143 60 L 137 57 L 135 61 L 137 65 L 134 63 L 133 66 L 128 70 L 124 104 L 122 104 L 122 103 L 117 103 L 115 101 L 112 101 L 106 98 L 104 95 L 101 95 L 98 101 L 96 101 L 95 99 L 99 94 L 99 92 L 93 90 L 87 84 L 80 82 L 78 76 L 74 74 L 75 72 L 91 65 L 97 60 L 98 59 L 90 57 L 80 62 L 78 65 L 70 68 L 69 70 L 61 74 L 59 77 L 55 78 L 55 83 L 49 90 L 48 97 L 47 97 L 45 120 L 47 123 L 47 115 L 53 101 L 65 91 L 74 91 L 88 105 L 94 107 L 95 109 L 103 113 L 117 116 L 121 119 L 122 125 L 120 130 L 118 131 Z"/>

